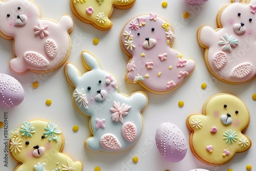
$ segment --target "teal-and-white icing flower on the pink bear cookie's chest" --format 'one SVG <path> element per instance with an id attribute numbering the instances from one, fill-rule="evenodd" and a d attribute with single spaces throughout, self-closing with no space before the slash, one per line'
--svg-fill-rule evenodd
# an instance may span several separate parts
<path id="1" fill-rule="evenodd" d="M 223 51 L 232 51 L 232 47 L 237 47 L 238 45 L 238 40 L 236 38 L 234 38 L 233 35 L 231 35 L 230 37 L 228 37 L 227 33 L 224 34 L 223 36 L 224 38 L 221 38 L 223 41 L 219 41 L 219 45 L 224 45 L 222 46 L 221 50 Z"/>

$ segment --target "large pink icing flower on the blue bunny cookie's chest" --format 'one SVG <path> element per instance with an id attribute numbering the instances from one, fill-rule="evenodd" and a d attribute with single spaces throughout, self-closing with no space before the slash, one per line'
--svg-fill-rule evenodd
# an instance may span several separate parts
<path id="1" fill-rule="evenodd" d="M 111 115 L 112 120 L 116 121 L 116 122 L 120 121 L 123 123 L 122 116 L 128 114 L 127 111 L 129 111 L 131 109 L 131 106 L 124 104 L 124 103 L 122 103 L 122 105 L 120 106 L 120 103 L 115 102 L 115 101 L 114 101 L 113 106 L 114 106 L 114 108 L 110 108 L 110 111 L 113 112 L 113 114 Z"/>

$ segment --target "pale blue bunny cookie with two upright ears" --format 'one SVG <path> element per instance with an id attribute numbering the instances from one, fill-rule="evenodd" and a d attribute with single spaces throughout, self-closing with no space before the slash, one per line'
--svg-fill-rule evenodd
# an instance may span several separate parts
<path id="1" fill-rule="evenodd" d="M 101 70 L 90 53 L 83 51 L 81 56 L 89 71 L 80 75 L 68 63 L 66 76 L 75 88 L 72 98 L 77 110 L 91 117 L 93 136 L 84 144 L 91 151 L 123 151 L 140 137 L 143 127 L 141 111 L 147 104 L 147 97 L 144 92 L 135 92 L 131 96 L 119 94 L 115 77 Z"/>

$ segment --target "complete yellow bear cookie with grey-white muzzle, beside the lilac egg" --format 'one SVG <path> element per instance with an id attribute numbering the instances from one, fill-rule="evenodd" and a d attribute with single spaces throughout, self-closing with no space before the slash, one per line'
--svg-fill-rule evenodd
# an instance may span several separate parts
<path id="1" fill-rule="evenodd" d="M 223 165 L 250 148 L 251 140 L 243 134 L 249 122 L 249 111 L 238 97 L 217 94 L 205 102 L 202 115 L 187 117 L 191 151 L 206 164 Z"/>

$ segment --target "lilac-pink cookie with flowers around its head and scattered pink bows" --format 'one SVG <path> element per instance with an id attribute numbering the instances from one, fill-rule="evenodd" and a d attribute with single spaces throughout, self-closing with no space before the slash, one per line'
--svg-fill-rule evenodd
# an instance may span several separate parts
<path id="1" fill-rule="evenodd" d="M 156 14 L 129 20 L 120 34 L 121 47 L 131 57 L 125 79 L 158 94 L 176 89 L 193 72 L 195 62 L 170 48 L 174 38 L 172 26 Z"/>

